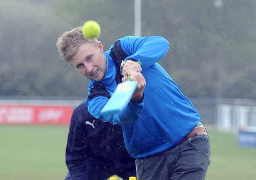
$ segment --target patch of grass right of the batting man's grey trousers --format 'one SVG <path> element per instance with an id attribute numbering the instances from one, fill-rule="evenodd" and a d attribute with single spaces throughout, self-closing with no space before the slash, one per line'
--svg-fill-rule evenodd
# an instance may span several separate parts
<path id="1" fill-rule="evenodd" d="M 256 148 L 241 148 L 237 134 L 209 131 L 211 163 L 207 180 L 256 180 Z"/>

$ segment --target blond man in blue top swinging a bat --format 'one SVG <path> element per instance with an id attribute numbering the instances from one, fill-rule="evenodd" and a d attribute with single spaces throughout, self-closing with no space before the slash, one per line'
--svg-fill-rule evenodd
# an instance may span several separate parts
<path id="1" fill-rule="evenodd" d="M 169 49 L 166 39 L 127 36 L 103 52 L 102 43 L 85 39 L 78 27 L 63 33 L 57 47 L 64 60 L 90 79 L 90 114 L 122 124 L 125 146 L 136 158 L 138 180 L 205 179 L 209 136 L 192 103 L 157 63 Z M 101 116 L 117 84 L 128 75 L 138 83 L 131 101 L 120 113 Z"/>

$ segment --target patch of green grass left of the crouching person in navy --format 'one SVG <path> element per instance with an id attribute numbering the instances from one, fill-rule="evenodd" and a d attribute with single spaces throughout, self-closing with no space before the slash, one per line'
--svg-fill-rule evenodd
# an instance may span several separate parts
<path id="1" fill-rule="evenodd" d="M 0 126 L 0 180 L 61 180 L 68 126 Z"/>

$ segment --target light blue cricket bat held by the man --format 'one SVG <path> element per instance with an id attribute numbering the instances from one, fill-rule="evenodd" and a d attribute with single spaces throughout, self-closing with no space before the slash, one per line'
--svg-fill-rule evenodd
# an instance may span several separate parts
<path id="1" fill-rule="evenodd" d="M 138 64 L 141 65 L 141 62 Z M 137 82 L 131 81 L 130 76 L 127 77 L 126 81 L 118 84 L 109 101 L 101 109 L 101 115 L 112 115 L 122 111 L 130 102 L 136 86 Z"/>

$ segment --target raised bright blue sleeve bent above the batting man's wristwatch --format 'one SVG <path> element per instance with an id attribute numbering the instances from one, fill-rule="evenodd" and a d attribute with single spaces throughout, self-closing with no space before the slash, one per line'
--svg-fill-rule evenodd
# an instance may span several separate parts
<path id="1" fill-rule="evenodd" d="M 120 40 L 123 51 L 128 54 L 125 60 L 141 61 L 142 69 L 159 61 L 169 49 L 169 42 L 161 36 L 126 36 Z"/>

